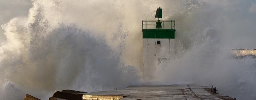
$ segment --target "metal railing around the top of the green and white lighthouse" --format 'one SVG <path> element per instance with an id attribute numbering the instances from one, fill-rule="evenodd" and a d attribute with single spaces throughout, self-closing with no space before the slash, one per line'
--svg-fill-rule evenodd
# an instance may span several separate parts
<path id="1" fill-rule="evenodd" d="M 142 29 L 156 29 L 158 20 L 142 20 Z M 162 29 L 175 29 L 175 20 L 160 20 Z"/>

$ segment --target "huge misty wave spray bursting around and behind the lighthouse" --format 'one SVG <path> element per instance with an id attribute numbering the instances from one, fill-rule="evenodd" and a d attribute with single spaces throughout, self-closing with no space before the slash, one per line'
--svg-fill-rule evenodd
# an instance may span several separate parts
<path id="1" fill-rule="evenodd" d="M 256 48 L 256 1 L 32 0 L 26 17 L 3 24 L 0 100 L 56 90 L 86 92 L 143 84 L 216 86 L 239 100 L 256 99 L 255 59 L 230 49 Z M 176 55 L 142 80 L 141 20 L 176 20 Z M 15 95 L 14 95 L 15 94 Z"/>

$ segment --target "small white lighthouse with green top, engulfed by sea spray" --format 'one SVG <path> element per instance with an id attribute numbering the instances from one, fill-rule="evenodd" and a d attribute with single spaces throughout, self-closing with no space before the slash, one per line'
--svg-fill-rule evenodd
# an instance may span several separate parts
<path id="1" fill-rule="evenodd" d="M 174 58 L 175 20 L 162 20 L 157 8 L 155 20 L 142 20 L 143 77 L 153 79 L 156 70 Z"/>

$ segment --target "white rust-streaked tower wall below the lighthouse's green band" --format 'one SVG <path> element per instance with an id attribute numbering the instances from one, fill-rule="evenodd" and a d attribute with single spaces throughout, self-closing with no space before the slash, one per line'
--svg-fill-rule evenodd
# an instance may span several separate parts
<path id="1" fill-rule="evenodd" d="M 144 79 L 154 79 L 157 68 L 174 59 L 174 46 L 174 39 L 143 38 Z"/>

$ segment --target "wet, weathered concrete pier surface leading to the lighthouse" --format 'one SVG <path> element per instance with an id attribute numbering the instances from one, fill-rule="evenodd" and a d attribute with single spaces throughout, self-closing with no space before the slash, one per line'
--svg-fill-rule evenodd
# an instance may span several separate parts
<path id="1" fill-rule="evenodd" d="M 130 86 L 122 90 L 101 91 L 84 94 L 91 96 L 123 96 L 120 100 L 234 100 L 226 95 L 211 92 L 211 87 L 192 85 Z M 97 100 L 97 99 L 95 99 Z M 108 99 L 98 99 L 108 100 Z"/>

